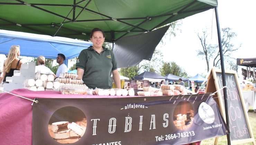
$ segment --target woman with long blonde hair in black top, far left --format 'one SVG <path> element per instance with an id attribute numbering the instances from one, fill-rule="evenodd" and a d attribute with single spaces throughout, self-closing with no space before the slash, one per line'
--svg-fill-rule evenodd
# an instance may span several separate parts
<path id="1" fill-rule="evenodd" d="M 11 46 L 8 57 L 3 64 L 3 77 L 0 82 L 8 83 L 6 82 L 6 77 L 12 77 L 14 70 L 20 70 L 22 61 L 18 56 L 20 56 L 20 46 Z"/>

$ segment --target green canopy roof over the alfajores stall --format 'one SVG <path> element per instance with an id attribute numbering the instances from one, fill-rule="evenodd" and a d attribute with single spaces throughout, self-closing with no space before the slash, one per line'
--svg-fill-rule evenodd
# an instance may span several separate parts
<path id="1" fill-rule="evenodd" d="M 1 0 L 0 29 L 89 40 L 93 28 L 105 41 L 152 31 L 212 9 L 217 0 Z"/>

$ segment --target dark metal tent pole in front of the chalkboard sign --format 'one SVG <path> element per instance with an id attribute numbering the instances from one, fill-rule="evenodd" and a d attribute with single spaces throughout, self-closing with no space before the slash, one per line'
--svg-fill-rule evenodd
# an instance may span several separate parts
<path id="1" fill-rule="evenodd" d="M 220 51 L 220 65 L 221 65 L 221 75 L 222 75 L 222 84 L 226 86 L 226 78 L 225 78 L 225 69 L 224 69 L 224 60 L 223 60 L 223 52 L 222 52 L 222 42 L 221 42 L 221 34 L 220 34 L 220 25 L 219 25 L 219 16 L 218 16 L 218 9 L 214 7 L 215 10 L 215 17 L 216 17 L 216 24 L 217 24 L 217 32 L 218 32 L 218 40 L 219 40 L 219 51 Z M 226 114 L 226 124 L 229 128 L 229 117 L 228 117 L 228 100 L 227 100 L 227 89 L 223 89 L 223 97 L 225 102 L 225 114 Z M 228 145 L 230 143 L 230 134 L 227 134 Z"/>

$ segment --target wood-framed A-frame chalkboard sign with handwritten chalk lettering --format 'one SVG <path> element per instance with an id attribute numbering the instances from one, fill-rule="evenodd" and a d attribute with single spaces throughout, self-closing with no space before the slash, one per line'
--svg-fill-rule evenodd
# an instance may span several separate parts
<path id="1" fill-rule="evenodd" d="M 229 117 L 229 130 L 230 130 L 230 140 L 231 143 L 245 143 L 245 142 L 253 142 L 254 137 L 252 134 L 252 129 L 250 127 L 250 123 L 248 122 L 248 114 L 244 110 L 244 100 L 241 95 L 240 86 L 238 86 L 238 77 L 235 71 L 227 71 L 225 72 L 225 80 L 227 86 L 227 108 L 228 108 L 228 117 Z M 214 83 L 213 83 L 214 81 Z M 220 69 L 213 68 L 211 70 L 211 74 L 208 78 L 209 86 L 207 86 L 207 93 L 209 90 L 219 90 L 218 96 L 216 95 L 217 104 L 221 108 L 221 112 L 224 118 L 226 118 L 225 114 L 225 103 L 224 103 L 224 95 L 223 95 L 223 87 L 222 84 L 222 74 Z M 215 84 L 215 88 L 214 88 Z M 213 92 L 211 92 L 213 93 Z"/>

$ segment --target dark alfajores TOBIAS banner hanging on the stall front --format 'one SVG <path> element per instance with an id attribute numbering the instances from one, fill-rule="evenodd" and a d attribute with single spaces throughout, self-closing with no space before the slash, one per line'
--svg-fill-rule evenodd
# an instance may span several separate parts
<path id="1" fill-rule="evenodd" d="M 210 94 L 37 98 L 33 144 L 186 144 L 229 130 Z"/>

